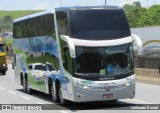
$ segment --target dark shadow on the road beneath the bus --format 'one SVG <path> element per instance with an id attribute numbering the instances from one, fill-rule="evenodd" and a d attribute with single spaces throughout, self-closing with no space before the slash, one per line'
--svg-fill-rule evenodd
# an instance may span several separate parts
<path id="1" fill-rule="evenodd" d="M 23 89 L 17 89 L 19 92 L 23 92 Z M 26 94 L 26 93 L 24 93 Z M 45 110 L 131 110 L 131 107 L 133 106 L 142 106 L 142 104 L 135 104 L 135 103 L 129 103 L 129 102 L 112 102 L 112 101 L 96 101 L 96 102 L 67 102 L 67 105 L 61 105 L 59 103 L 55 103 L 52 101 L 52 98 L 50 95 L 34 91 L 31 96 L 42 99 L 44 101 L 50 102 L 51 104 L 42 104 L 43 109 Z"/>

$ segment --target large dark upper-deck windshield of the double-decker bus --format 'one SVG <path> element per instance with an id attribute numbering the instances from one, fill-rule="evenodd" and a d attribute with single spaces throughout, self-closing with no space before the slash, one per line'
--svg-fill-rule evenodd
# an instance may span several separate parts
<path id="1" fill-rule="evenodd" d="M 122 9 L 71 10 L 71 37 L 83 40 L 113 40 L 131 35 Z"/>

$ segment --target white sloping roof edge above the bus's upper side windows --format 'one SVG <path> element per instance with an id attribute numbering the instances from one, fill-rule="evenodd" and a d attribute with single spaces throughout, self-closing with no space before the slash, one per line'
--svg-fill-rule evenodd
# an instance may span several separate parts
<path id="1" fill-rule="evenodd" d="M 13 23 L 19 22 L 19 21 L 22 21 L 22 20 L 27 20 L 27 19 L 29 19 L 29 18 L 34 18 L 34 17 L 37 17 L 37 16 L 42 16 L 42 15 L 45 15 L 45 14 L 54 14 L 54 12 L 55 12 L 54 9 L 50 9 L 50 10 L 42 11 L 42 12 L 39 12 L 39 13 L 27 15 L 27 16 L 24 16 L 24 17 L 15 19 L 15 20 L 13 21 Z"/>

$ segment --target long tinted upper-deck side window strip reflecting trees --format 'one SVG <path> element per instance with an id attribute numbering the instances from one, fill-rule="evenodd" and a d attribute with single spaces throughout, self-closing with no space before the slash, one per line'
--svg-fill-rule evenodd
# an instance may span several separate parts
<path id="1" fill-rule="evenodd" d="M 54 15 L 47 14 L 13 24 L 14 38 L 29 38 L 55 34 Z"/>

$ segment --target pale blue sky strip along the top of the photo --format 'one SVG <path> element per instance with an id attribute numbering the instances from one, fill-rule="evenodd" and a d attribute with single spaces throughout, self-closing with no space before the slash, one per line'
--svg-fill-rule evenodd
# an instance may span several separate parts
<path id="1" fill-rule="evenodd" d="M 123 6 L 140 1 L 143 7 L 160 4 L 160 0 L 106 0 L 107 5 Z M 60 6 L 104 5 L 105 0 L 0 0 L 0 10 L 47 10 Z"/>

